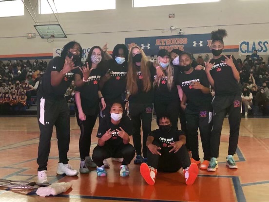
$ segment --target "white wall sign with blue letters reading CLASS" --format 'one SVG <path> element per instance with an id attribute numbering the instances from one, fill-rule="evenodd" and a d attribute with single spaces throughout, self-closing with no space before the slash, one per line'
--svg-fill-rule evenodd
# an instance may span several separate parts
<path id="1" fill-rule="evenodd" d="M 258 55 L 269 55 L 269 40 L 243 40 L 239 42 L 239 55 L 251 55 L 253 50 Z"/>

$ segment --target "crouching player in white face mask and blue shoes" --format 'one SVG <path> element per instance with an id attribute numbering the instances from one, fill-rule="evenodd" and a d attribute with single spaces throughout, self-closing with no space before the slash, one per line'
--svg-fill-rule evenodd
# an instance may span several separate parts
<path id="1" fill-rule="evenodd" d="M 93 151 L 93 161 L 97 165 L 97 176 L 106 176 L 103 161 L 108 158 L 123 158 L 120 176 L 129 176 L 128 164 L 135 157 L 135 147 L 130 144 L 132 122 L 129 117 L 122 116 L 124 104 L 114 102 L 110 108 L 110 116 L 103 118 L 97 132 L 98 145 Z"/>

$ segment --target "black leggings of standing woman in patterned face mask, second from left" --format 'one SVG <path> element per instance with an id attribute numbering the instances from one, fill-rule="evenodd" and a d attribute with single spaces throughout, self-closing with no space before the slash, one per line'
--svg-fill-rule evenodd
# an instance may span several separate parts
<path id="1" fill-rule="evenodd" d="M 97 110 L 95 115 L 86 115 L 86 120 L 81 121 L 79 119 L 77 105 L 75 105 L 75 112 L 77 117 L 77 125 L 80 127 L 80 137 L 79 137 L 79 154 L 80 159 L 85 160 L 85 157 L 90 156 L 90 148 L 92 142 L 92 132 L 97 119 Z"/>

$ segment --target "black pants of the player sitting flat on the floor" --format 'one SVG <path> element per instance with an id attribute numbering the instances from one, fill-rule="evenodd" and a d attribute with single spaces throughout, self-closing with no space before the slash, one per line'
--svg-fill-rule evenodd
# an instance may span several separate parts
<path id="1" fill-rule="evenodd" d="M 160 143 L 158 141 L 154 140 L 153 144 L 160 147 Z M 160 172 L 171 173 L 177 172 L 180 168 L 185 169 L 190 167 L 191 160 L 185 145 L 182 145 L 176 153 L 169 153 L 170 149 L 168 148 L 158 150 L 161 153 L 161 156 L 151 153 L 148 149 L 148 165 L 156 168 Z M 172 149 L 173 147 L 170 148 Z"/>

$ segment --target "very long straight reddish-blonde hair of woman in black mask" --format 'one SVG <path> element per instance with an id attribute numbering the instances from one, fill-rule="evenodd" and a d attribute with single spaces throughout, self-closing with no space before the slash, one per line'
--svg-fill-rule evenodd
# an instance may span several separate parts
<path id="1" fill-rule="evenodd" d="M 128 72 L 127 72 L 127 85 L 126 88 L 127 90 L 130 91 L 131 95 L 135 95 L 138 92 L 138 86 L 137 86 L 137 71 L 136 71 L 136 65 L 135 62 L 133 61 L 133 55 L 132 51 L 134 48 L 138 48 L 141 55 L 141 74 L 143 76 L 142 82 L 143 82 L 143 91 L 148 92 L 151 87 L 151 74 L 150 74 L 150 69 L 149 69 L 149 64 L 147 62 L 147 57 L 144 53 L 144 51 L 139 47 L 139 46 L 134 46 L 131 48 L 129 52 L 129 60 L 128 60 Z"/>

